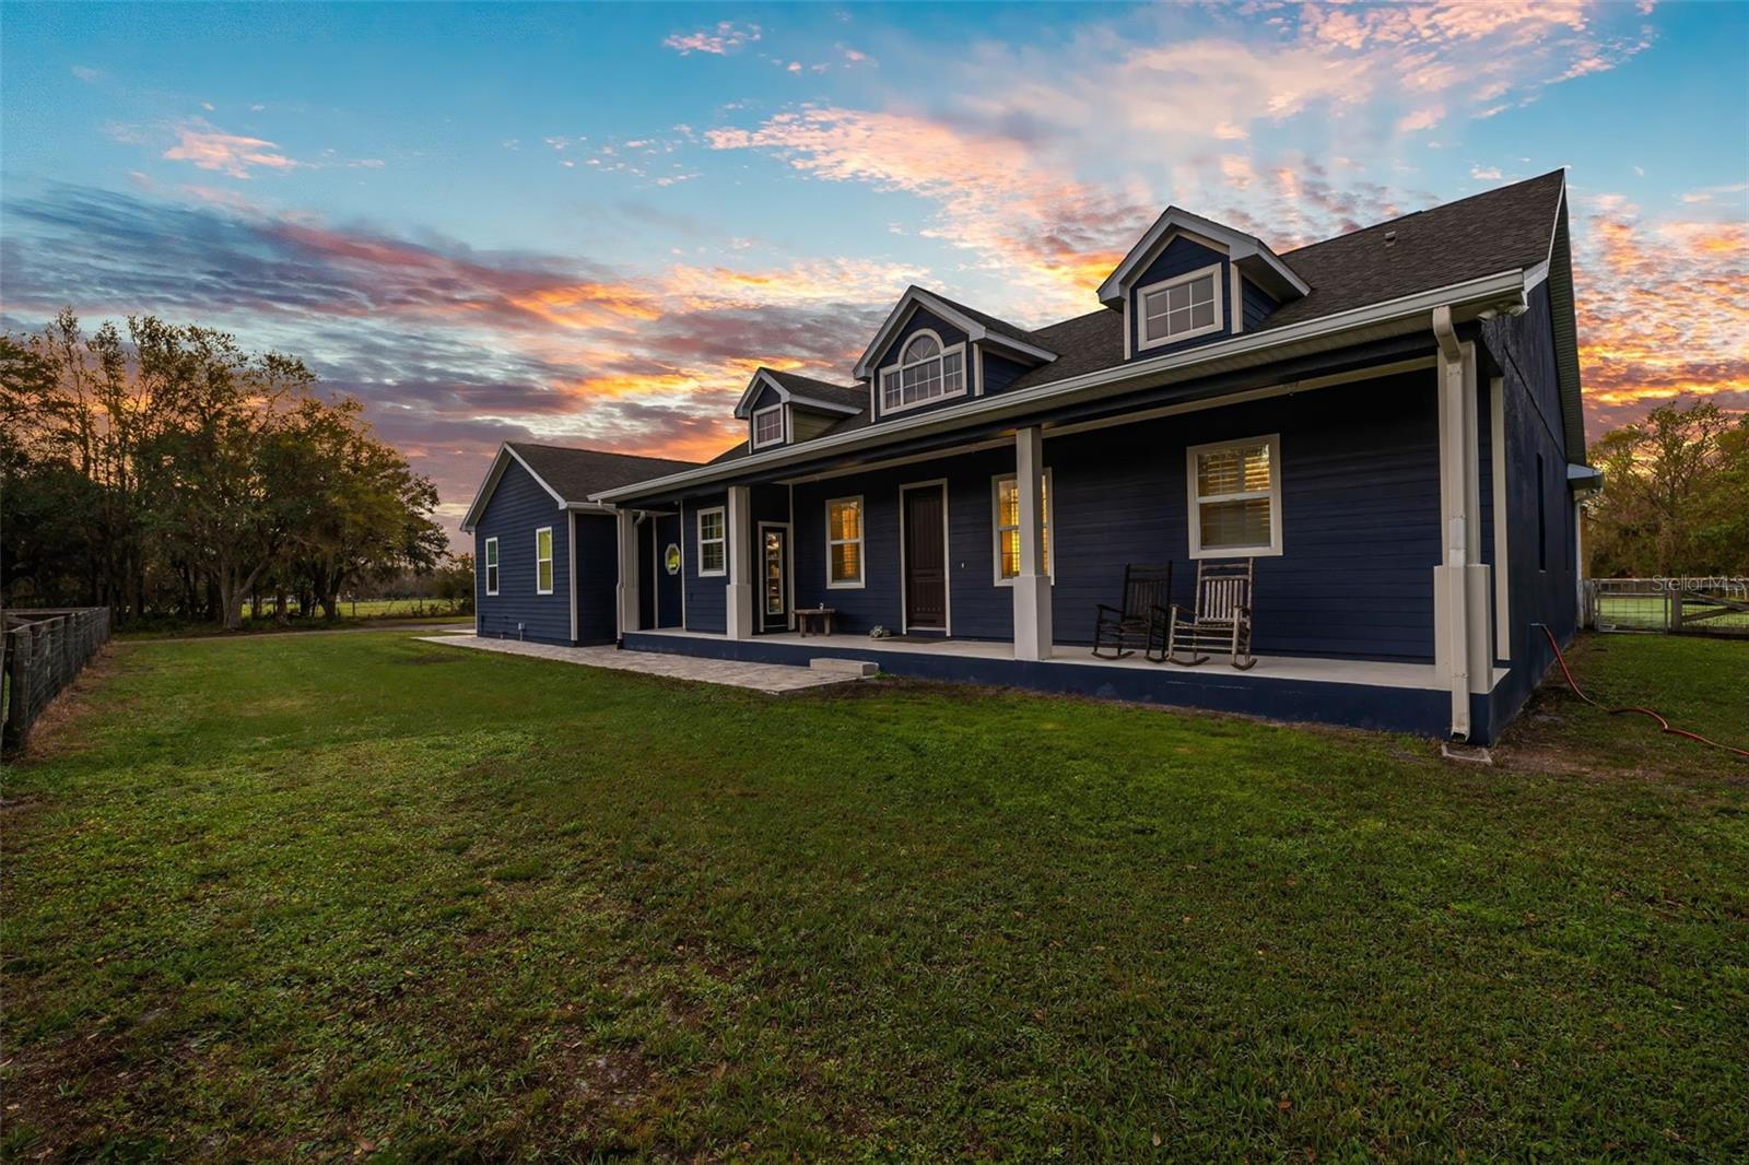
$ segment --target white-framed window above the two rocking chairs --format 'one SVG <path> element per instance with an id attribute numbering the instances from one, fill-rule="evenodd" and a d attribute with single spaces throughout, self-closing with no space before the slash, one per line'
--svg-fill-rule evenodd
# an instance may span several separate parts
<path id="1" fill-rule="evenodd" d="M 1184 451 L 1191 558 L 1282 553 L 1282 437 L 1195 444 Z"/>

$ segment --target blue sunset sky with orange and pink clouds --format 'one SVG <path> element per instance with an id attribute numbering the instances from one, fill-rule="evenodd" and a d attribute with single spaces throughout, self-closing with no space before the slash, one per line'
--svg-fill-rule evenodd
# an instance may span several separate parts
<path id="1" fill-rule="evenodd" d="M 1567 166 L 1588 430 L 1749 408 L 1749 5 L 0 9 L 0 313 L 304 357 L 434 478 L 710 457 L 906 283 L 1027 325 Z"/>

